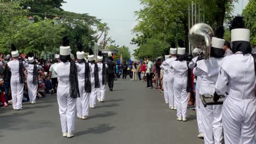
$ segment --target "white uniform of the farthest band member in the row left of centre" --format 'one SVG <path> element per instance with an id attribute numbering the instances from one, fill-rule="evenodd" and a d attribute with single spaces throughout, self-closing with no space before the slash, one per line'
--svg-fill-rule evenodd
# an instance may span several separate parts
<path id="1" fill-rule="evenodd" d="M 106 65 L 106 70 L 107 70 L 108 65 L 107 64 L 105 64 L 105 65 Z M 100 81 L 100 88 L 97 89 L 98 101 L 104 101 L 105 92 L 106 92 L 106 85 L 102 85 L 102 69 L 103 69 L 103 63 L 98 63 L 98 79 Z M 107 78 L 106 78 L 106 81 L 107 81 Z"/>

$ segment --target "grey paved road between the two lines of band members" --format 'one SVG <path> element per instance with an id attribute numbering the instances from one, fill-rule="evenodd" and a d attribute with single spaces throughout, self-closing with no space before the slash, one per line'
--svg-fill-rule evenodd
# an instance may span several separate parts
<path id="1" fill-rule="evenodd" d="M 25 103 L 22 111 L 0 108 L 1 144 L 164 144 L 203 143 L 197 139 L 195 111 L 188 122 L 178 122 L 167 109 L 162 93 L 139 81 L 116 81 L 106 102 L 90 110 L 88 120 L 75 120 L 75 137 L 62 137 L 56 95 Z"/>

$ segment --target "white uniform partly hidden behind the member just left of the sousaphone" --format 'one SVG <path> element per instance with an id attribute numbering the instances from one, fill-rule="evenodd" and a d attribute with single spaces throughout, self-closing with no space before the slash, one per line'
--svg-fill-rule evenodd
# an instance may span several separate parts
<path id="1" fill-rule="evenodd" d="M 174 103 L 174 93 L 173 93 L 173 82 L 174 82 L 174 69 L 171 68 L 171 63 L 176 60 L 176 57 L 166 59 L 161 68 L 164 69 L 164 98 L 165 102 L 169 103 L 169 108 L 176 106 Z"/>

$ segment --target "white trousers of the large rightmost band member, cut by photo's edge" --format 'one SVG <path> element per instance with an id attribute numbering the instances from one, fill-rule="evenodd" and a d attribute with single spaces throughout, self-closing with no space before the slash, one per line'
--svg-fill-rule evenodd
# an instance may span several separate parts
<path id="1" fill-rule="evenodd" d="M 226 144 L 254 143 L 256 134 L 256 99 L 238 99 L 228 95 L 223 104 Z"/>

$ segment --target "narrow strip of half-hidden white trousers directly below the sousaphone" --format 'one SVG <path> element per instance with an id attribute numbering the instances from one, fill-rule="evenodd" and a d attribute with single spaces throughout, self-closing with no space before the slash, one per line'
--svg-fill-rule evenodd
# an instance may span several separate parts
<path id="1" fill-rule="evenodd" d="M 202 105 L 202 101 L 200 99 L 200 85 L 201 85 L 201 77 L 197 76 L 196 79 L 196 119 L 197 119 L 197 125 L 198 125 L 198 131 L 199 133 L 203 133 L 204 132 L 204 128 L 203 128 L 203 123 L 202 123 L 202 110 L 201 107 Z"/>

